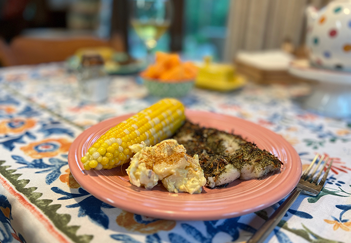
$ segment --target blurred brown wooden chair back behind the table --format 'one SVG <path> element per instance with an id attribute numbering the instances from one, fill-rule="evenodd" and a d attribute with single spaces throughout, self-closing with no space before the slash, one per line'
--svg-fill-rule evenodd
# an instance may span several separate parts
<path id="1" fill-rule="evenodd" d="M 18 36 L 9 45 L 0 39 L 0 66 L 64 61 L 79 48 L 85 47 L 112 47 L 117 52 L 125 51 L 119 36 L 110 40 L 91 36 L 56 39 Z"/>

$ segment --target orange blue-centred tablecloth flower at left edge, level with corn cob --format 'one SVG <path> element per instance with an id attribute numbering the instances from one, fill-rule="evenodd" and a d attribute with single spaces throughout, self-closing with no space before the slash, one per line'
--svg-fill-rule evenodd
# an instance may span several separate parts
<path id="1" fill-rule="evenodd" d="M 15 118 L 0 122 L 0 134 L 21 133 L 29 128 L 34 127 L 34 119 Z"/>

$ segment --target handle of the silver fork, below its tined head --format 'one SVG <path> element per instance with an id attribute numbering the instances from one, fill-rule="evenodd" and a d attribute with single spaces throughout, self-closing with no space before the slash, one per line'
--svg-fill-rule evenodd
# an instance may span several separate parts
<path id="1" fill-rule="evenodd" d="M 263 243 L 275 226 L 278 225 L 300 193 L 301 190 L 295 188 L 290 196 L 273 212 L 271 217 L 267 219 L 267 221 L 256 231 L 256 233 L 254 233 L 247 243 Z"/>

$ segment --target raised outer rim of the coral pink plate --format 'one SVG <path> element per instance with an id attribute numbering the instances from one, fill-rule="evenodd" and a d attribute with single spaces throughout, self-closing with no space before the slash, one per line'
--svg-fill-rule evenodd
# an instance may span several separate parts
<path id="1" fill-rule="evenodd" d="M 273 204 L 277 203 L 278 201 L 280 201 L 281 199 L 283 199 L 285 196 L 287 196 L 292 190 L 293 188 L 297 185 L 298 180 L 301 176 L 302 173 L 302 164 L 301 164 L 301 159 L 298 156 L 297 152 L 295 151 L 295 149 L 292 147 L 292 145 L 286 141 L 285 139 L 283 139 L 280 135 L 274 133 L 272 130 L 269 130 L 265 127 L 262 127 L 252 121 L 247 121 L 238 117 L 234 117 L 234 116 L 230 116 L 230 115 L 225 115 L 225 114 L 220 114 L 220 113 L 214 113 L 214 112 L 210 112 L 210 111 L 201 111 L 201 110 L 191 110 L 191 109 L 186 109 L 186 116 L 193 116 L 194 114 L 207 114 L 207 115 L 212 115 L 215 116 L 216 118 L 226 118 L 226 119 L 233 119 L 233 120 L 240 120 L 241 122 L 247 123 L 247 124 L 251 124 L 254 127 L 256 127 L 257 129 L 260 129 L 266 133 L 269 133 L 270 135 L 272 135 L 273 137 L 277 137 L 280 139 L 280 142 L 283 142 L 284 145 L 286 147 L 289 148 L 289 151 L 292 152 L 292 157 L 294 159 L 296 159 L 296 161 L 294 162 L 294 166 L 295 166 L 295 174 L 294 176 L 292 175 L 288 175 L 290 176 L 290 179 L 292 179 L 291 183 L 289 184 L 290 187 L 286 187 L 284 189 L 284 192 L 279 192 L 279 196 L 275 196 L 274 200 L 271 200 L 270 203 L 266 203 L 266 204 L 260 204 L 257 205 L 256 207 L 253 208 L 247 208 L 245 210 L 241 210 L 241 211 L 231 211 L 231 210 L 226 210 L 226 212 L 222 212 L 222 213 L 214 213 L 213 211 L 206 211 L 206 214 L 200 214 L 200 211 L 196 211 L 195 214 L 193 213 L 189 213 L 189 209 L 185 210 L 160 210 L 158 208 L 137 208 L 134 205 L 130 205 L 130 202 L 128 202 L 128 200 L 124 200 L 123 202 L 120 202 L 117 200 L 116 201 L 112 201 L 108 196 L 103 196 L 101 194 L 98 193 L 98 189 L 89 186 L 89 182 L 92 180 L 94 181 L 94 178 L 92 178 L 93 176 L 89 176 L 88 180 L 86 180 L 86 178 L 83 178 L 86 176 L 86 174 L 83 174 L 83 172 L 78 168 L 77 164 L 80 163 L 80 161 L 77 161 L 77 154 L 76 154 L 76 150 L 75 147 L 78 146 L 78 143 L 80 142 L 79 139 L 83 138 L 84 136 L 86 136 L 87 134 L 91 134 L 91 131 L 93 131 L 96 127 L 101 126 L 103 123 L 108 123 L 114 120 L 118 120 L 118 121 L 123 121 L 125 119 L 127 119 L 128 117 L 130 117 L 132 114 L 126 114 L 126 115 L 121 115 L 121 116 L 117 116 L 114 118 L 110 118 L 107 119 L 105 121 L 101 121 L 96 125 L 93 125 L 92 127 L 86 129 L 85 131 L 83 131 L 72 143 L 69 153 L 68 153 L 68 165 L 71 171 L 71 174 L 74 176 L 74 178 L 76 179 L 76 181 L 78 182 L 78 184 L 86 191 L 88 191 L 91 195 L 97 197 L 99 200 L 110 204 L 114 207 L 129 211 L 129 212 L 133 212 L 136 214 L 140 214 L 140 215 L 144 215 L 144 216 L 148 216 L 148 217 L 153 217 L 153 218 L 159 218 L 159 219 L 168 219 L 168 220 L 218 220 L 218 219 L 225 219 L 225 218 L 233 218 L 233 217 L 237 217 L 237 216 L 241 216 L 244 214 L 248 214 L 248 213 L 252 213 L 258 210 L 261 210 L 263 208 L 267 208 L 272 206 Z M 192 115 L 190 115 L 192 114 Z M 123 120 L 122 120 L 123 119 Z M 191 120 L 191 119 L 190 119 Z M 108 130 L 108 128 L 106 128 L 106 130 Z M 241 134 L 240 134 L 241 135 Z M 283 162 L 284 163 L 284 162 Z M 77 168 L 75 168 L 75 165 L 77 166 Z M 73 170 L 72 170 L 73 169 Z M 284 168 L 285 170 L 285 168 Z M 220 190 L 220 189 L 219 189 Z M 128 189 L 127 189 L 128 191 Z M 176 194 L 176 193 L 172 193 L 172 194 Z M 190 195 L 190 194 L 189 194 Z M 196 196 L 196 194 L 191 195 L 191 196 Z M 160 201 L 162 201 L 161 199 L 159 199 Z M 196 200 L 194 200 L 196 201 Z M 201 206 L 202 207 L 202 206 Z M 228 206 L 227 206 L 228 207 Z"/>

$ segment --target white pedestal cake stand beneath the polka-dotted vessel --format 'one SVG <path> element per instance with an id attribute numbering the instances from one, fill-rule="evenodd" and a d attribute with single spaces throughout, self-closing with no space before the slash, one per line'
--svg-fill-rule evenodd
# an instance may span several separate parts
<path id="1" fill-rule="evenodd" d="M 303 108 L 333 118 L 351 118 L 351 72 L 318 69 L 308 60 L 292 61 L 289 72 L 319 81 L 303 101 Z"/>

